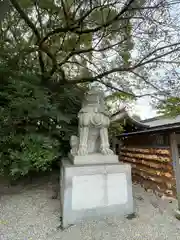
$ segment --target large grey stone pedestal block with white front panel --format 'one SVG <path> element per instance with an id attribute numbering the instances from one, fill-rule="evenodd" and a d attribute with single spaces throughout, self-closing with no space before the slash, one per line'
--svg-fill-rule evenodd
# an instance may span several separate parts
<path id="1" fill-rule="evenodd" d="M 62 227 L 88 218 L 134 213 L 131 166 L 121 163 L 61 166 Z"/>

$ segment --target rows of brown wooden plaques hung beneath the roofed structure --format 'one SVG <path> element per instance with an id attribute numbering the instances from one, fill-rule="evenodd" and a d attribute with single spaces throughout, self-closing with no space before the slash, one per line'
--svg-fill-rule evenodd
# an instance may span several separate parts
<path id="1" fill-rule="evenodd" d="M 170 148 L 122 147 L 120 161 L 132 166 L 133 181 L 159 195 L 175 197 L 175 177 Z"/>

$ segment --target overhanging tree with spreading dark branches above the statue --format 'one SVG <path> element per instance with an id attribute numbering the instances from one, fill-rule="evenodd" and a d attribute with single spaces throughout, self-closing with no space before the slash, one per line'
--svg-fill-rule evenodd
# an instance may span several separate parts
<path id="1" fill-rule="evenodd" d="M 13 9 L 3 23 L 3 38 L 6 36 L 7 40 L 3 48 L 10 47 L 12 54 L 14 46 L 9 46 L 9 42 L 13 42 L 16 54 L 11 58 L 21 59 L 21 67 L 38 72 L 43 84 L 52 85 L 55 81 L 61 87 L 98 82 L 133 97 L 137 95 L 135 89 L 144 89 L 148 84 L 154 91 L 145 95 L 162 94 L 151 81 L 151 75 L 167 56 L 171 58 L 179 52 L 178 28 L 170 14 L 179 2 L 11 0 L 11 3 L 16 11 Z M 12 25 L 11 21 L 16 23 Z"/>

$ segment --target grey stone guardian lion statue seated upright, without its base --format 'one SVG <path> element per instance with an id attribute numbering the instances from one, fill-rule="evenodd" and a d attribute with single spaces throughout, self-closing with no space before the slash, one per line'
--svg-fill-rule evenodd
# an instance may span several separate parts
<path id="1" fill-rule="evenodd" d="M 85 94 L 78 118 L 79 137 L 71 136 L 71 155 L 85 156 L 92 153 L 113 155 L 108 139 L 110 119 L 101 91 L 92 88 Z"/>

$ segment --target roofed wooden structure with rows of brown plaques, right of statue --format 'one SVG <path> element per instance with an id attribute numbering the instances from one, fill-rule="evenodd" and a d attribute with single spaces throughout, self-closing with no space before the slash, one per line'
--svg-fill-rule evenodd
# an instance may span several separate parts
<path id="1" fill-rule="evenodd" d="M 124 124 L 112 145 L 119 160 L 131 164 L 133 180 L 159 195 L 179 196 L 180 116 L 138 122 L 122 109 L 112 121 Z"/>

